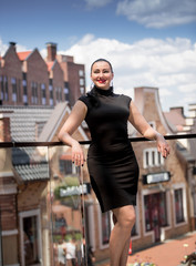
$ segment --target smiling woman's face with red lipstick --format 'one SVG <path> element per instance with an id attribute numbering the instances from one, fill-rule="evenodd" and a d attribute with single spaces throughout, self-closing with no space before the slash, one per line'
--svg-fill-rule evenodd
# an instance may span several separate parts
<path id="1" fill-rule="evenodd" d="M 114 74 L 111 66 L 105 61 L 99 61 L 93 64 L 91 80 L 99 89 L 107 90 L 111 85 Z"/>

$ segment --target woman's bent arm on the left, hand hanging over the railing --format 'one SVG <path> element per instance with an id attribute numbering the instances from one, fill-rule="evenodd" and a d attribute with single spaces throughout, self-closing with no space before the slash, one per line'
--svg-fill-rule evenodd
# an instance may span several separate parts
<path id="1" fill-rule="evenodd" d="M 86 105 L 82 101 L 76 101 L 58 135 L 60 141 L 72 147 L 72 162 L 78 166 L 84 164 L 84 153 L 80 143 L 72 137 L 72 134 L 85 119 L 86 112 Z"/>

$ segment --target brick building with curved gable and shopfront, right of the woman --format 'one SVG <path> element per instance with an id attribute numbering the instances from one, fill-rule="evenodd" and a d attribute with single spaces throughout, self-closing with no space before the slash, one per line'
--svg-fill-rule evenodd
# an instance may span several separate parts
<path id="1" fill-rule="evenodd" d="M 178 127 L 168 122 L 162 111 L 158 89 L 136 88 L 134 100 L 155 130 L 163 135 L 177 133 Z M 133 129 L 132 134 L 140 136 Z M 133 143 L 140 164 L 134 249 L 195 229 L 192 221 L 194 207 L 189 201 L 192 187 L 186 171 L 188 161 L 182 160 L 178 140 L 168 142 L 171 155 L 167 160 L 157 153 L 155 142 Z"/>

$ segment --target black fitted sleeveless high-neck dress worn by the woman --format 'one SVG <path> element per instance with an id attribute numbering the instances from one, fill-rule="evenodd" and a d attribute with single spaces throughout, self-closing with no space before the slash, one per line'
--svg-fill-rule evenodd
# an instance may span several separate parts
<path id="1" fill-rule="evenodd" d="M 138 165 L 127 137 L 132 99 L 113 93 L 112 88 L 94 88 L 79 100 L 87 106 L 92 137 L 87 167 L 102 212 L 136 205 Z"/>

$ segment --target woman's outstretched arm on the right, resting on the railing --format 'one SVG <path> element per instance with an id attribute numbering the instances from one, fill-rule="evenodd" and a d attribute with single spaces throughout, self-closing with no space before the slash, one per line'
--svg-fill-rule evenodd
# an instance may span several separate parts
<path id="1" fill-rule="evenodd" d="M 157 150 L 162 153 L 163 157 L 167 157 L 169 154 L 169 146 L 165 141 L 164 136 L 155 131 L 144 119 L 144 116 L 140 113 L 136 105 L 133 101 L 130 104 L 130 116 L 128 121 L 133 124 L 133 126 L 146 139 L 155 140 L 157 143 Z"/>

